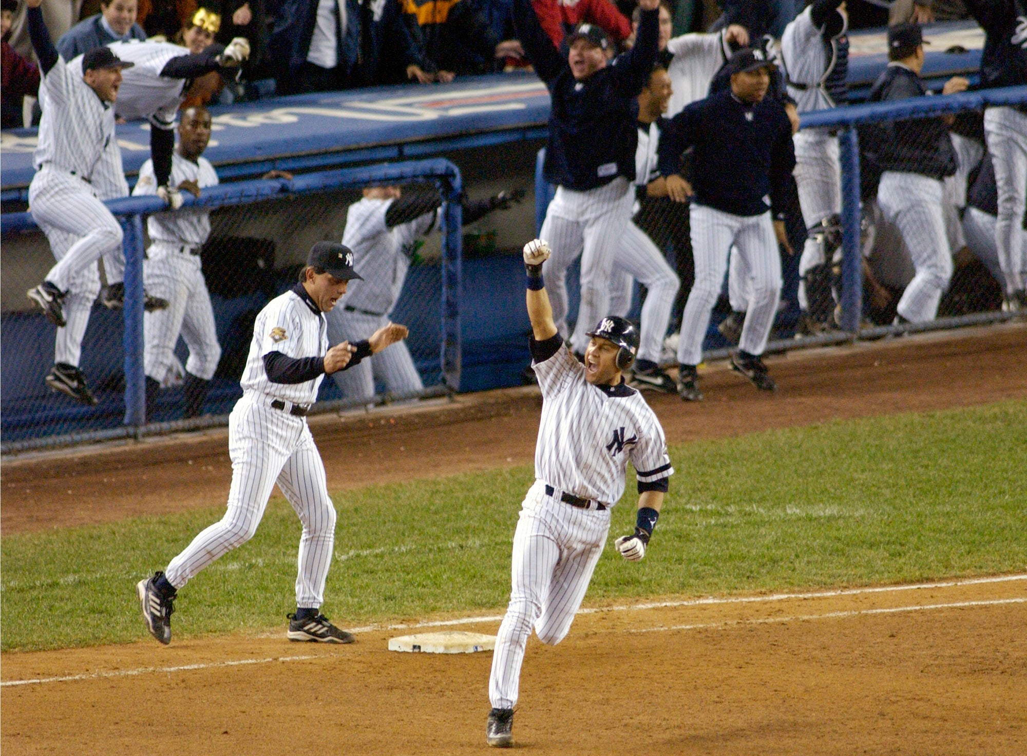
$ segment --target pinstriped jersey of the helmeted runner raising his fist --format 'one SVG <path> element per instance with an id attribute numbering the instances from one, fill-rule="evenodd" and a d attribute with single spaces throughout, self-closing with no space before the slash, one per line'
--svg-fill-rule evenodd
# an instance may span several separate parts
<path id="1" fill-rule="evenodd" d="M 566 345 L 532 367 L 542 390 L 538 480 L 611 505 L 624 492 L 629 460 L 640 483 L 674 475 L 663 428 L 638 391 L 622 385 L 608 392 L 592 385 Z"/>

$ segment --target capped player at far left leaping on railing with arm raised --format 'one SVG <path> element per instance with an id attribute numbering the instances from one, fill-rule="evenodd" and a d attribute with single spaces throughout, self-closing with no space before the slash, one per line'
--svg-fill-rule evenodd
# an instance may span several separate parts
<path id="1" fill-rule="evenodd" d="M 78 368 L 89 310 L 100 292 L 97 262 L 104 258 L 109 281 L 119 279 L 121 226 L 98 196 L 92 181 L 105 163 L 121 165 L 114 136 L 113 104 L 122 70 L 131 63 L 99 47 L 68 64 L 58 54 L 39 9 L 27 0 L 29 33 L 39 59 L 43 116 L 29 185 L 29 209 L 46 234 L 58 263 L 28 297 L 58 327 L 54 365 L 46 376 L 53 389 L 84 404 L 97 400 Z M 110 182 L 105 182 L 109 184 Z M 124 176 L 120 176 L 124 184 Z M 127 193 L 127 185 L 125 185 Z"/>

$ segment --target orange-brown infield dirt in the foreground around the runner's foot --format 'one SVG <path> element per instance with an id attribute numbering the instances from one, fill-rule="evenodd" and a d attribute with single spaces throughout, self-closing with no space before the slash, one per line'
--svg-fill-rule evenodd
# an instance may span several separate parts
<path id="1" fill-rule="evenodd" d="M 755 598 L 610 608 L 577 617 L 558 646 L 533 638 L 520 751 L 1027 753 L 1027 575 Z M 407 632 L 331 648 L 281 633 L 7 654 L 0 745 L 5 756 L 488 752 L 492 654 L 386 650 Z M 60 675 L 83 677 L 46 681 Z M 31 679 L 42 681 L 10 684 Z"/>

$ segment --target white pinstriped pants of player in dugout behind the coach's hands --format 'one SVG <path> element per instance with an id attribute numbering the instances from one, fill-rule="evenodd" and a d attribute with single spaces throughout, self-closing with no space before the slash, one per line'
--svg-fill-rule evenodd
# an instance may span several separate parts
<path id="1" fill-rule="evenodd" d="M 328 313 L 328 341 L 341 344 L 367 339 L 389 323 L 388 315 L 373 315 L 347 310 L 338 305 Z M 397 398 L 413 398 L 424 392 L 424 382 L 414 366 L 406 341 L 392 344 L 349 370 L 333 373 L 336 384 L 346 399 L 370 402 L 375 396 L 375 380 L 385 384 L 385 390 Z"/>

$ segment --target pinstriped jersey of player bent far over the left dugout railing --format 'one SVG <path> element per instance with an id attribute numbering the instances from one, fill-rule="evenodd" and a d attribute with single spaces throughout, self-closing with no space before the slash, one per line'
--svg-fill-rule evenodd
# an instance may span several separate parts
<path id="1" fill-rule="evenodd" d="M 170 42 L 136 39 L 107 46 L 122 61 L 136 64 L 122 73 L 124 78 L 115 105 L 118 115 L 126 120 L 149 120 L 154 125 L 170 128 L 186 80 L 161 76 L 160 72 L 173 58 L 188 55 L 189 48 Z"/>

